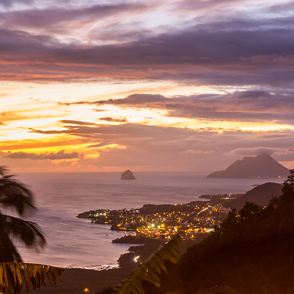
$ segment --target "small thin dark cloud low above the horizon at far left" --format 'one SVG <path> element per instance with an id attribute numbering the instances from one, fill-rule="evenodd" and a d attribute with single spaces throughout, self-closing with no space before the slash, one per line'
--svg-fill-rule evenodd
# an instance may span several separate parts
<path id="1" fill-rule="evenodd" d="M 60 150 L 57 153 L 30 153 L 30 152 L 2 152 L 3 157 L 6 158 L 15 158 L 15 159 L 24 159 L 29 158 L 33 160 L 58 160 L 58 159 L 73 159 L 78 158 L 79 154 L 77 152 L 66 153 L 64 150 Z"/>

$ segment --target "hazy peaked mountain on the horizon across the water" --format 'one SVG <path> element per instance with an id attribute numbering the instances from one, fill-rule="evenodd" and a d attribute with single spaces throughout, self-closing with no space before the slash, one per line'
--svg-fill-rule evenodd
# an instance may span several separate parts
<path id="1" fill-rule="evenodd" d="M 289 170 L 274 160 L 269 154 L 244 157 L 236 160 L 226 170 L 212 172 L 208 178 L 278 178 L 287 177 Z"/>

